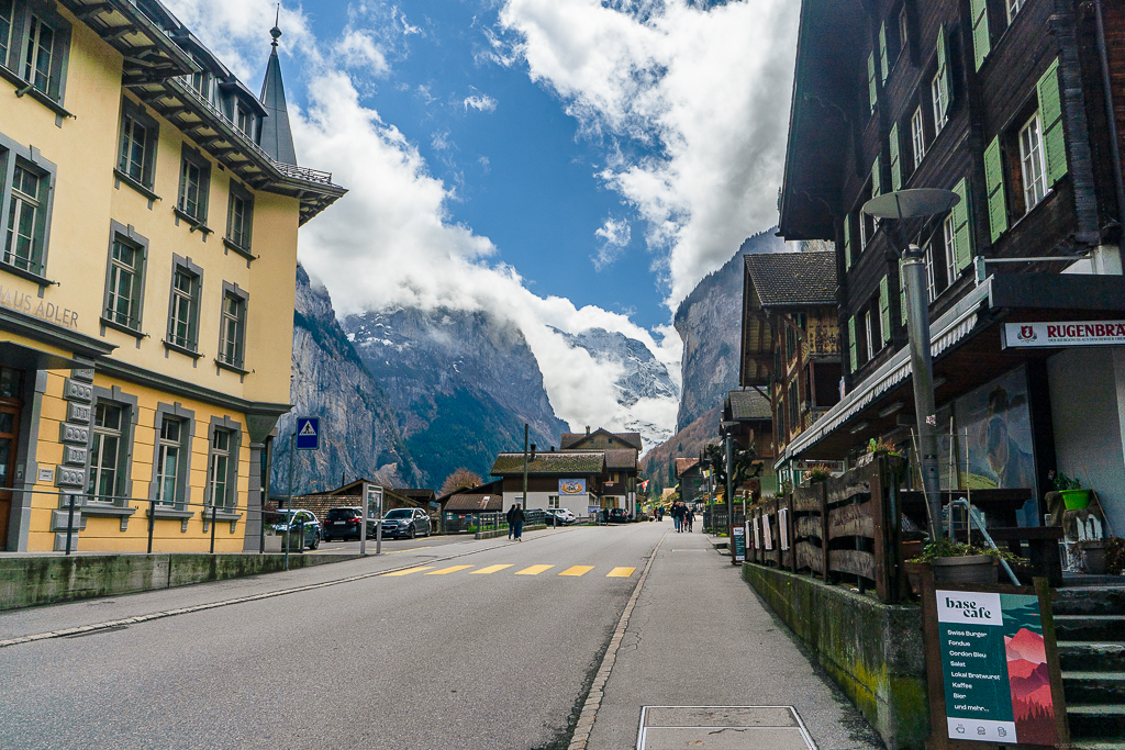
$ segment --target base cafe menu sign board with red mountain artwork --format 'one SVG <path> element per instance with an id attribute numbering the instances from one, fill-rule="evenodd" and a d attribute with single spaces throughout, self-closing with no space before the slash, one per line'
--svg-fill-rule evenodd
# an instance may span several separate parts
<path id="1" fill-rule="evenodd" d="M 935 744 L 1065 743 L 1059 656 L 1053 638 L 1044 635 L 1041 597 L 1027 587 L 933 586 L 924 614 Z M 935 651 L 940 654 L 937 690 Z"/>

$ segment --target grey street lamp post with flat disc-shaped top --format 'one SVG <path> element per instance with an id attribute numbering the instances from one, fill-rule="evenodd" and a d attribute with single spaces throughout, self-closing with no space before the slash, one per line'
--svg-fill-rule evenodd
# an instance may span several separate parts
<path id="1" fill-rule="evenodd" d="M 933 188 L 899 190 L 872 198 L 864 204 L 863 213 L 892 220 L 921 218 L 947 211 L 960 200 L 961 197 L 952 190 Z M 901 256 L 901 279 L 907 291 L 910 371 L 914 377 L 915 414 L 918 422 L 918 463 L 929 515 L 929 537 L 936 540 L 940 536 L 942 487 L 937 470 L 937 408 L 934 396 L 934 362 L 930 355 L 926 254 L 917 245 L 908 245 Z"/>

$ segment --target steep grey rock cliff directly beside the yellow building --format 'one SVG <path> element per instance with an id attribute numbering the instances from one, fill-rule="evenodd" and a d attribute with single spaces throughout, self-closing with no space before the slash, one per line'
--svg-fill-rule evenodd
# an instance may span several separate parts
<path id="1" fill-rule="evenodd" d="M 339 487 L 341 478 L 367 477 L 395 487 L 422 480 L 387 395 L 336 323 L 328 292 L 314 286 L 300 265 L 289 398 L 294 408 L 278 422 L 271 493 L 289 493 L 289 435 L 304 415 L 321 417 L 325 440 L 318 451 L 297 452 L 297 494 Z"/>

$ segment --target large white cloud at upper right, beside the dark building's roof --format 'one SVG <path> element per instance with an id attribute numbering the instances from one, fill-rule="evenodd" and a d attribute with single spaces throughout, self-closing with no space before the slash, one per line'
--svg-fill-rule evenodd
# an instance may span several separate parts
<path id="1" fill-rule="evenodd" d="M 506 0 L 501 11 L 507 54 L 611 142 L 600 177 L 645 220 L 669 308 L 776 222 L 799 8 Z"/>

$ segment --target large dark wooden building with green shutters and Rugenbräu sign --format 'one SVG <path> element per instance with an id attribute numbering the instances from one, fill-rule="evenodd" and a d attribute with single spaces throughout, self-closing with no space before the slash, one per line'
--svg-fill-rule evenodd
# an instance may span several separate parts
<path id="1" fill-rule="evenodd" d="M 780 463 L 909 443 L 910 242 L 937 423 L 968 432 L 968 471 L 943 488 L 1026 489 L 1040 505 L 1019 521 L 1037 525 L 1061 471 L 1125 527 L 1125 328 L 1106 324 L 1125 319 L 1125 3 L 803 0 L 792 101 L 780 234 L 836 242 L 846 392 Z M 926 220 L 861 213 L 904 188 L 961 202 Z"/>

